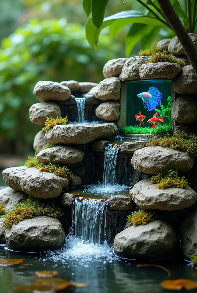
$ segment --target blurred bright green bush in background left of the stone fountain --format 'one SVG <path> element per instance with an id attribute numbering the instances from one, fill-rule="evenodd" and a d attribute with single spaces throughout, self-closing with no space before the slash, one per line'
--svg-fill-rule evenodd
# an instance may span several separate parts
<path id="1" fill-rule="evenodd" d="M 93 51 L 85 29 L 66 19 L 31 20 L 2 40 L 0 49 L 0 151 L 23 154 L 32 149 L 41 129 L 29 120 L 28 109 L 38 100 L 39 80 L 94 81 L 103 79 L 103 65 L 116 58 L 120 45 L 102 35 Z M 110 48 L 110 50 L 109 50 Z"/>

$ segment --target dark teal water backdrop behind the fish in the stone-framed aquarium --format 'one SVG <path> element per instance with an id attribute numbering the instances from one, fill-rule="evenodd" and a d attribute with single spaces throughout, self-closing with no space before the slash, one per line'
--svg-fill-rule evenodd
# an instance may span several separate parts
<path id="1" fill-rule="evenodd" d="M 171 96 L 171 80 L 139 80 L 139 81 L 131 81 L 127 83 L 127 103 L 126 103 L 126 125 L 137 125 L 139 126 L 140 121 L 136 121 L 135 115 L 138 115 L 139 111 L 141 112 L 143 120 L 141 127 L 152 127 L 151 123 L 148 123 L 148 120 L 153 117 L 155 114 L 154 109 L 148 111 L 147 104 L 143 103 L 142 98 L 140 98 L 140 93 L 148 93 L 150 87 L 156 87 L 160 93 L 162 93 L 162 105 L 167 108 L 167 98 L 169 95 Z M 148 96 L 148 95 L 147 95 Z M 146 99 L 146 94 L 143 96 Z M 157 97 L 157 93 L 156 93 Z M 150 97 L 147 97 L 150 98 Z M 157 102 L 157 100 L 156 100 Z M 150 103 L 150 102 L 147 102 Z M 145 106 L 144 106 L 145 104 Z M 146 108 L 145 108 L 146 107 Z M 156 106 L 156 109 L 161 110 L 160 103 Z M 171 112 L 170 112 L 171 114 Z M 144 119 L 143 119 L 144 118 Z M 162 124 L 168 124 L 167 118 L 164 117 L 164 122 Z M 156 124 L 157 125 L 157 124 Z"/>

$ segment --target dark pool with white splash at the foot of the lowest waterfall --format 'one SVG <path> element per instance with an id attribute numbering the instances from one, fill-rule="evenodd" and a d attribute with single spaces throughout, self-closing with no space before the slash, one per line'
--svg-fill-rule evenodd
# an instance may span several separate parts
<path id="1" fill-rule="evenodd" d="M 20 265 L 0 267 L 1 293 L 24 293 L 13 287 L 29 285 L 38 270 L 57 270 L 57 277 L 71 282 L 88 283 L 89 287 L 68 289 L 76 293 L 165 293 L 160 283 L 167 279 L 167 273 L 156 267 L 136 268 L 140 262 L 120 260 L 113 255 L 113 248 L 83 244 L 75 238 L 67 238 L 66 246 L 57 252 L 42 254 L 14 253 L 0 246 L 0 258 L 25 258 L 24 264 L 32 264 L 20 269 Z M 175 259 L 170 264 L 161 261 L 171 272 L 169 279 L 187 278 L 197 281 L 197 272 L 191 266 Z M 191 290 L 196 292 L 196 290 Z M 26 292 L 27 293 L 27 292 Z"/>

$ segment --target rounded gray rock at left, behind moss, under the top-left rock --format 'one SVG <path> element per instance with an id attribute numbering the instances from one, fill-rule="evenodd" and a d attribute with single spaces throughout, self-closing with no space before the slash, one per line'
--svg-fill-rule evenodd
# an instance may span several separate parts
<path id="1" fill-rule="evenodd" d="M 29 109 L 30 121 L 38 125 L 44 125 L 47 117 L 57 118 L 57 116 L 61 116 L 61 110 L 56 103 L 36 103 Z"/>

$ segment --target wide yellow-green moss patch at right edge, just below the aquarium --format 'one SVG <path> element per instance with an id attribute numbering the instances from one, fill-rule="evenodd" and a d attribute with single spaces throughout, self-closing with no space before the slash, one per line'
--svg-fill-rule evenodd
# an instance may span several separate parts
<path id="1" fill-rule="evenodd" d="M 188 156 L 197 157 L 197 134 L 173 134 L 172 136 L 154 137 L 147 141 L 147 147 L 165 147 L 184 151 Z"/>

